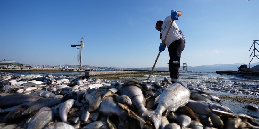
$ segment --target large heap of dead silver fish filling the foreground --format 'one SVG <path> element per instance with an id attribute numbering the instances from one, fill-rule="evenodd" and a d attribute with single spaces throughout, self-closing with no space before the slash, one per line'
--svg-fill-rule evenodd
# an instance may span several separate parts
<path id="1" fill-rule="evenodd" d="M 0 74 L 0 128 L 259 128 L 184 82 Z M 256 109 L 257 110 L 257 109 Z"/>

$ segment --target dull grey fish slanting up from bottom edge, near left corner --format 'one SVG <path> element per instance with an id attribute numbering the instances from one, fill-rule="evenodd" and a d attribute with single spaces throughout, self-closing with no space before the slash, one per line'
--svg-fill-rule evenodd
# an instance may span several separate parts
<path id="1" fill-rule="evenodd" d="M 42 129 L 52 120 L 52 111 L 49 107 L 41 108 L 29 121 L 27 129 Z"/>

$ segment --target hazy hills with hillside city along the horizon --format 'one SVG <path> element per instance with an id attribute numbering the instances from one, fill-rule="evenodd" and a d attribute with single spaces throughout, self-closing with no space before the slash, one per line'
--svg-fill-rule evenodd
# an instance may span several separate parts
<path id="1" fill-rule="evenodd" d="M 258 65 L 258 63 L 253 63 L 250 64 L 250 68 L 254 67 L 255 65 Z M 201 65 L 201 66 L 187 66 L 188 71 L 208 71 L 208 72 L 213 72 L 216 70 L 233 70 L 237 71 L 238 67 L 240 65 L 243 65 L 242 63 L 235 63 L 235 64 L 214 64 L 214 65 Z M 248 67 L 248 64 L 246 64 Z M 24 66 L 32 66 L 32 67 L 38 67 L 38 68 L 45 68 L 47 67 L 55 67 L 59 68 L 58 66 L 52 66 L 52 65 L 32 65 L 32 64 L 24 64 Z M 70 69 L 77 69 L 78 65 L 61 65 L 62 68 L 70 68 Z M 111 70 L 111 71 L 116 71 L 116 70 L 151 70 L 152 67 L 146 67 L 146 68 L 118 68 L 118 67 L 100 67 L 100 66 L 90 66 L 90 65 L 82 65 L 83 69 L 93 69 L 93 70 Z M 182 70 L 182 65 L 180 66 L 180 70 Z M 155 67 L 154 70 L 164 70 L 167 71 L 169 70 L 168 67 Z"/>

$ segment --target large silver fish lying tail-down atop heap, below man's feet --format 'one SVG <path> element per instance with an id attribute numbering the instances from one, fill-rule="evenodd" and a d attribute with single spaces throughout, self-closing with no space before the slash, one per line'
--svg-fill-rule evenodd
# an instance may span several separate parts
<path id="1" fill-rule="evenodd" d="M 190 91 L 186 84 L 182 82 L 174 83 L 168 88 L 164 89 L 159 98 L 159 103 L 154 111 L 143 113 L 154 123 L 155 128 L 158 129 L 161 124 L 161 116 L 164 111 L 176 111 L 180 106 L 188 103 L 190 98 Z"/>

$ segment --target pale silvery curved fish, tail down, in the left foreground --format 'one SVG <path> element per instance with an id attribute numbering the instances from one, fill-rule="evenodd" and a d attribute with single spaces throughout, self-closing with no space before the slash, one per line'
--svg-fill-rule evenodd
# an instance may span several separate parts
<path id="1" fill-rule="evenodd" d="M 75 100 L 74 99 L 68 99 L 64 103 L 61 104 L 59 108 L 59 116 L 62 120 L 62 122 L 67 123 L 67 113 L 74 106 Z"/>

